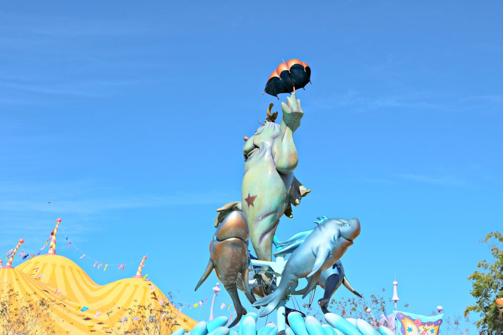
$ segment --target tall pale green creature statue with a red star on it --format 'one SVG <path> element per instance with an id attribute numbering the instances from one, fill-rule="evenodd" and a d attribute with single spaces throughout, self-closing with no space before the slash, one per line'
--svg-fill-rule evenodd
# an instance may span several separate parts
<path id="1" fill-rule="evenodd" d="M 293 93 L 287 97 L 287 103 L 281 103 L 281 124 L 275 122 L 278 112 L 271 114 L 271 108 L 272 104 L 266 121 L 255 134 L 244 137 L 241 201 L 217 209 L 215 220 L 216 227 L 232 210 L 242 210 L 251 244 L 263 261 L 271 261 L 273 238 L 281 216 L 293 217 L 291 205 L 297 206 L 310 192 L 293 174 L 298 163 L 293 133 L 304 114 L 300 100 Z"/>

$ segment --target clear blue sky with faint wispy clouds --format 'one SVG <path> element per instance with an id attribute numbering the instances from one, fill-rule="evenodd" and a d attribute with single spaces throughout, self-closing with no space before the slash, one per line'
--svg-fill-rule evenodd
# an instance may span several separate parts
<path id="1" fill-rule="evenodd" d="M 408 310 L 472 302 L 466 277 L 501 227 L 500 2 L 44 2 L 0 10 L 0 248 L 61 228 L 103 262 L 136 262 L 181 302 L 208 259 L 215 209 L 239 199 L 242 137 L 282 59 L 299 58 L 296 176 L 312 189 L 279 237 L 360 218 L 343 264 Z M 281 95 L 284 101 L 286 95 Z M 276 110 L 276 109 L 273 109 Z M 281 114 L 281 113 L 280 113 Z M 51 203 L 47 203 L 50 201 Z M 98 283 L 99 272 L 59 245 Z M 19 263 L 19 260 L 16 260 Z M 348 297 L 341 288 L 335 297 Z M 188 314 L 207 317 L 208 308 Z M 391 311 L 391 307 L 389 308 Z"/>

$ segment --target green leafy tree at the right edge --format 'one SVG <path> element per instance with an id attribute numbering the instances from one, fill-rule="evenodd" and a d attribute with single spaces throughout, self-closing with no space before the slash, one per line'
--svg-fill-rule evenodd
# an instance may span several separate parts
<path id="1" fill-rule="evenodd" d="M 503 235 L 498 232 L 488 234 L 484 243 L 494 239 L 496 243 L 489 245 L 493 260 L 482 260 L 477 264 L 477 270 L 468 279 L 472 281 L 473 289 L 470 294 L 475 298 L 475 303 L 466 307 L 465 316 L 470 312 L 480 315 L 477 327 L 480 333 L 503 334 L 503 320 L 498 318 L 494 301 L 503 297 Z M 499 243 L 498 243 L 499 242 Z"/>

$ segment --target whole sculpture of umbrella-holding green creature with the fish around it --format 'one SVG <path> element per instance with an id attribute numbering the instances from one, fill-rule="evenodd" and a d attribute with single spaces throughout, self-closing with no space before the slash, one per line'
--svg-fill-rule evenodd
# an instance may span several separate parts
<path id="1" fill-rule="evenodd" d="M 323 287 L 325 294 L 318 301 L 323 313 L 328 313 L 328 301 L 342 283 L 360 296 L 347 281 L 340 262 L 360 234 L 357 218 L 323 216 L 315 221 L 314 229 L 297 233 L 283 242 L 275 240 L 280 218 L 284 214 L 293 217 L 291 205 L 299 205 L 301 198 L 311 191 L 293 173 L 298 164 L 293 134 L 304 115 L 295 89 L 303 88 L 310 81 L 310 73 L 307 64 L 295 59 L 280 64 L 273 72 L 265 91 L 273 96 L 282 92 L 293 91 L 293 94 L 286 98 L 286 103 L 281 103 L 280 123 L 276 123 L 278 112 L 272 113 L 271 103 L 265 122 L 254 135 L 244 137 L 241 201 L 229 202 L 217 209 L 217 231 L 210 244 L 210 262 L 196 289 L 215 269 L 236 307 L 237 318 L 230 326 L 239 322 L 246 312 L 241 307 L 237 288 L 245 292 L 253 306 L 262 307 L 259 316 L 277 310 L 278 326 L 269 329 L 271 333 L 285 332 L 286 314 L 302 318 L 300 313 L 290 313 L 292 309 L 286 312 L 285 302 L 292 294 L 305 297 L 311 293 L 312 303 L 316 286 Z M 236 219 L 240 225 L 231 224 Z M 248 232 L 257 258 L 246 250 Z M 272 261 L 273 243 L 275 261 Z M 287 260 L 286 255 L 289 255 Z M 301 278 L 306 278 L 307 284 L 295 290 Z M 260 300 L 254 303 L 256 297 Z M 257 314 L 251 314 L 255 315 L 251 319 L 256 320 Z"/>

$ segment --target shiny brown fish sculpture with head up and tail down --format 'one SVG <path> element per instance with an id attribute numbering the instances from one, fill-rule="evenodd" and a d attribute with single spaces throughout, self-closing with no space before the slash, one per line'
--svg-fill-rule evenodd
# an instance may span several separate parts
<path id="1" fill-rule="evenodd" d="M 241 281 L 245 287 L 246 297 L 251 303 L 255 302 L 250 295 L 248 285 L 248 226 L 246 219 L 240 211 L 232 211 L 218 225 L 218 228 L 210 243 L 210 261 L 195 290 L 208 278 L 211 270 L 223 284 L 236 309 L 236 318 L 229 325 L 236 325 L 241 316 L 246 314 L 237 295 L 237 282 Z M 239 277 L 241 276 L 241 278 Z"/>

